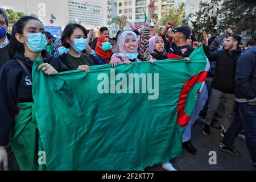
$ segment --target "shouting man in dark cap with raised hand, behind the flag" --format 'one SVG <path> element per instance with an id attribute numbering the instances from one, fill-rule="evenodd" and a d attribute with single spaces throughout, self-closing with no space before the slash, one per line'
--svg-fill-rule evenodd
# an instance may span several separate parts
<path id="1" fill-rule="evenodd" d="M 167 22 L 166 27 L 164 27 L 160 32 L 160 36 L 162 36 L 164 40 L 164 48 L 167 51 L 167 57 L 168 59 L 189 57 L 189 55 L 194 51 L 192 46 L 187 45 L 187 39 L 189 36 L 192 36 L 191 29 L 189 26 L 185 25 L 172 28 L 174 24 L 174 22 Z M 169 42 L 165 38 L 166 32 L 169 28 L 172 28 L 172 31 L 174 32 L 172 42 Z"/>

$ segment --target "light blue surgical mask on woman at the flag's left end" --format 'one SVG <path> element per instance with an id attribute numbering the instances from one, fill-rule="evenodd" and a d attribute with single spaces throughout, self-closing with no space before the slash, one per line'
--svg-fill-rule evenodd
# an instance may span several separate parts
<path id="1" fill-rule="evenodd" d="M 27 35 L 23 35 L 23 36 L 27 36 L 27 47 L 35 53 L 41 52 L 43 51 L 43 49 L 46 48 L 47 45 L 47 40 L 46 40 L 46 35 L 42 34 L 42 33 L 38 33 L 38 34 L 27 34 Z"/>

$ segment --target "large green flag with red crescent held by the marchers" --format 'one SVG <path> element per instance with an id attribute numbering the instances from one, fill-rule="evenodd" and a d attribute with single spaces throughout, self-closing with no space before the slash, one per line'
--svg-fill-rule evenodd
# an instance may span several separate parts
<path id="1" fill-rule="evenodd" d="M 98 65 L 88 73 L 46 76 L 39 64 L 32 94 L 47 170 L 142 170 L 181 155 L 207 76 L 202 47 L 189 62 Z"/>

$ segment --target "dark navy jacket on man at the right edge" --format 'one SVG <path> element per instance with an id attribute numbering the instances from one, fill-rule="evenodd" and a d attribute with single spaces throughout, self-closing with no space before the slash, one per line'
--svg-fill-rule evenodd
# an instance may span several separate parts
<path id="1" fill-rule="evenodd" d="M 237 61 L 236 100 L 256 101 L 256 48 L 246 49 Z"/>

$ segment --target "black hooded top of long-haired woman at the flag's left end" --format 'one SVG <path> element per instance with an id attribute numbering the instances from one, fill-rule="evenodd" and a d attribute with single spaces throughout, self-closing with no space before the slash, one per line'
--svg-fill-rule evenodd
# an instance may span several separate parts
<path id="1" fill-rule="evenodd" d="M 6 146 L 8 143 L 16 104 L 33 101 L 31 81 L 15 59 L 21 60 L 32 73 L 33 61 L 18 53 L 0 68 L 0 146 Z M 67 67 L 52 55 L 46 55 L 44 63 L 51 64 L 58 72 L 68 71 Z"/>

